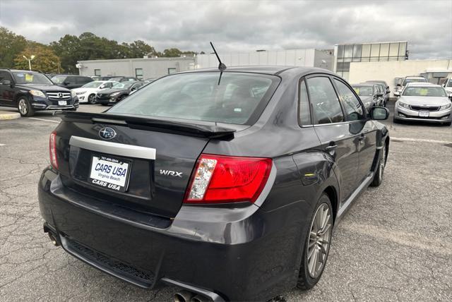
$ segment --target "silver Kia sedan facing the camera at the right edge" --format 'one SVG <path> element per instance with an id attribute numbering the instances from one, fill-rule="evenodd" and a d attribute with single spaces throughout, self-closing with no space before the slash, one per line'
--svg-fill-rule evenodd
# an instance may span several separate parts
<path id="1" fill-rule="evenodd" d="M 394 122 L 400 120 L 451 126 L 452 102 L 440 85 L 409 83 L 401 92 L 394 109 Z"/>

